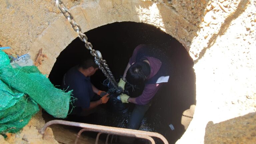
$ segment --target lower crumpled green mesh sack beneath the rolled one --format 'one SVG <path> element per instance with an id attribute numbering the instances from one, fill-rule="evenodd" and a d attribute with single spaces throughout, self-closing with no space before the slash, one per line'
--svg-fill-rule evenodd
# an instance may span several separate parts
<path id="1" fill-rule="evenodd" d="M 37 103 L 0 80 L 0 134 L 15 133 L 39 111 Z"/>

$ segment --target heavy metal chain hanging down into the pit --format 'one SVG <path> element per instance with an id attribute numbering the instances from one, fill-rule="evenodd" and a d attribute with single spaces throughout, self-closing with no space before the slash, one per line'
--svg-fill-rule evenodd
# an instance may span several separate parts
<path id="1" fill-rule="evenodd" d="M 66 17 L 66 19 L 68 19 L 68 21 L 71 24 L 71 27 L 74 29 L 74 31 L 77 32 L 79 39 L 85 43 L 86 49 L 90 50 L 90 54 L 92 56 L 94 56 L 94 61 L 99 66 L 99 69 L 107 77 L 107 79 L 110 81 L 110 83 L 114 86 L 114 89 L 111 89 L 110 91 L 122 93 L 123 90 L 121 87 L 118 87 L 115 77 L 113 76 L 112 72 L 110 71 L 106 60 L 102 59 L 102 55 L 101 55 L 100 51 L 92 49 L 92 44 L 87 41 L 88 40 L 87 36 L 84 33 L 82 33 L 81 27 L 79 26 L 79 24 L 76 23 L 73 15 L 66 8 L 66 6 L 62 2 L 62 0 L 56 0 L 56 5 L 60 9 L 62 14 Z"/>

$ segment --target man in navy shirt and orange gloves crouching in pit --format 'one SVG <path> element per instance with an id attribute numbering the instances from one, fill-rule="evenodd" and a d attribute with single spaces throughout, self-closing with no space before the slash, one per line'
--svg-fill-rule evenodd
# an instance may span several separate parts
<path id="1" fill-rule="evenodd" d="M 98 105 L 107 103 L 109 94 L 97 89 L 90 81 L 90 76 L 98 69 L 98 65 L 92 59 L 87 59 L 69 69 L 64 75 L 62 89 L 73 90 L 72 94 L 77 99 L 71 114 L 86 116 Z"/>

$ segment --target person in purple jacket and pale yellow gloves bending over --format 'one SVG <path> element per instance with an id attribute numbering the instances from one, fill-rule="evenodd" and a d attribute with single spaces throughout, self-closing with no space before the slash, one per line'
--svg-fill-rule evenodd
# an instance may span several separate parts
<path id="1" fill-rule="evenodd" d="M 144 90 L 138 97 L 120 95 L 122 103 L 134 103 L 135 107 L 126 125 L 129 129 L 139 129 L 142 118 L 151 105 L 151 99 L 159 88 L 169 80 L 170 70 L 167 56 L 156 46 L 138 45 L 124 71 L 118 86 L 124 89 L 125 83 L 139 85 L 144 83 Z"/>

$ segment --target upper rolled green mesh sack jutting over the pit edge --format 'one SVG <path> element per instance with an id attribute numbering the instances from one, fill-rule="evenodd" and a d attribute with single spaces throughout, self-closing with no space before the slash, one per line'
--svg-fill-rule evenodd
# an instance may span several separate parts
<path id="1" fill-rule="evenodd" d="M 71 92 L 65 93 L 57 89 L 42 75 L 37 67 L 25 66 L 12 68 L 6 64 L 10 62 L 6 59 L 4 52 L 0 51 L 0 79 L 12 88 L 28 94 L 45 111 L 57 118 L 67 117 Z M 8 57 L 8 56 L 7 56 Z M 3 59 L 1 59 L 3 58 Z"/>

